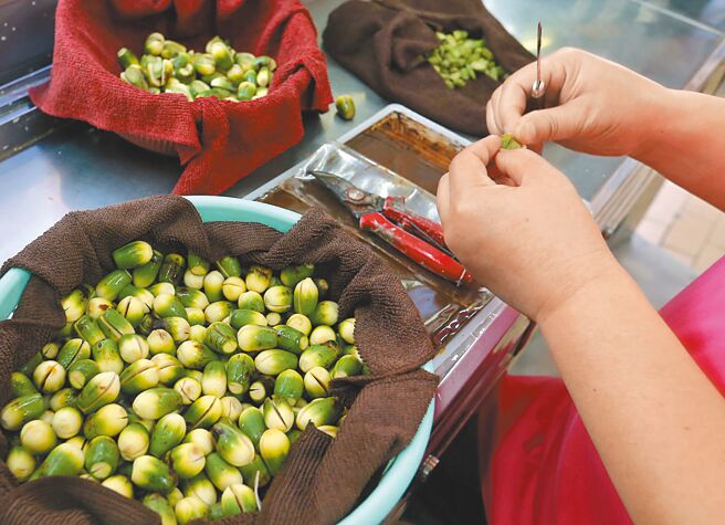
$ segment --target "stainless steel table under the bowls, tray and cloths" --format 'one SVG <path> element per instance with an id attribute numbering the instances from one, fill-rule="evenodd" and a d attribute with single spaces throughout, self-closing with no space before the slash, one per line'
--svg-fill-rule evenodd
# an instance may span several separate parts
<path id="1" fill-rule="evenodd" d="M 33 28 L 44 27 L 48 31 L 54 0 L 32 2 L 35 11 L 30 9 L 30 3 L 0 0 L 0 56 L 15 49 L 10 46 L 18 45 L 18 35 L 29 38 Z M 342 2 L 308 0 L 306 3 L 322 32 L 329 11 Z M 670 87 L 700 90 L 725 56 L 722 0 L 484 0 L 484 4 L 529 50 L 534 49 L 536 22 L 540 20 L 544 53 L 566 45 L 584 48 Z M 22 17 L 17 24 L 3 21 L 3 15 L 18 13 Z M 42 48 L 48 41 L 49 35 L 42 34 L 33 42 Z M 0 67 L 4 67 L 2 62 Z M 147 153 L 85 124 L 61 124 L 39 115 L 24 98 L 24 91 L 28 85 L 42 82 L 48 71 L 49 67 L 36 67 L 30 76 L 0 88 L 0 260 L 18 252 L 67 211 L 169 192 L 181 172 L 174 158 Z M 356 122 L 395 102 L 381 98 L 332 60 L 329 77 L 335 93 L 347 93 L 355 98 Z M 0 74 L 0 82 L 4 80 L 7 75 Z M 305 137 L 298 145 L 240 181 L 227 195 L 244 197 L 322 144 L 351 129 L 356 122 L 340 120 L 334 112 L 307 115 Z M 22 144 L 28 141 L 30 146 Z M 653 177 L 637 162 L 623 158 L 597 158 L 555 145 L 547 146 L 545 156 L 590 201 L 595 217 L 608 233 L 619 225 Z M 480 405 L 525 339 L 526 319 L 511 308 L 501 304 L 488 315 L 490 325 L 461 356 L 460 374 L 451 379 L 458 389 L 452 402 L 463 408 L 445 424 L 442 432 L 445 435 L 439 433 L 435 453 Z M 425 469 L 434 463 L 432 456 Z"/>

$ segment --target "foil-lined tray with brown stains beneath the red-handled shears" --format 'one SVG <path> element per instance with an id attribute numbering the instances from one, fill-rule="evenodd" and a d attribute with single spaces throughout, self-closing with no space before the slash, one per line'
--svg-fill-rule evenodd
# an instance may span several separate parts
<path id="1" fill-rule="evenodd" d="M 333 193 L 307 175 L 308 169 L 329 171 L 366 191 L 382 197 L 406 197 L 411 211 L 439 221 L 434 197 L 438 181 L 467 141 L 407 108 L 389 107 L 372 122 L 323 145 L 250 198 L 300 213 L 314 206 L 322 207 L 351 235 L 375 250 L 400 276 L 418 307 L 439 349 L 437 372 L 443 375 L 491 322 L 494 296 L 475 283 L 456 285 L 445 281 L 377 235 L 360 231 L 357 220 Z"/>

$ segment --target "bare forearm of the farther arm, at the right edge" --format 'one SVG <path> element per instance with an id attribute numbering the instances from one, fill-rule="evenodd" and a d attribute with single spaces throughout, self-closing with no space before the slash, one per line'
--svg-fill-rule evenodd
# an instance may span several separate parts
<path id="1" fill-rule="evenodd" d="M 725 210 L 725 99 L 668 90 L 656 113 L 633 157 Z"/>

